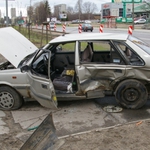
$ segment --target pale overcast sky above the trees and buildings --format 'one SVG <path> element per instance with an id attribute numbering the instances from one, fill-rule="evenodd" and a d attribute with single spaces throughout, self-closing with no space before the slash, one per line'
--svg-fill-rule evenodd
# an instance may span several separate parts
<path id="1" fill-rule="evenodd" d="M 26 8 L 27 6 L 34 5 L 36 2 L 40 2 L 42 0 L 8 0 L 8 15 L 10 16 L 10 8 L 16 8 L 17 9 L 17 15 L 20 11 L 22 11 L 23 16 L 26 16 Z M 51 10 L 53 11 L 54 5 L 57 4 L 66 4 L 67 6 L 71 6 L 74 8 L 75 4 L 77 3 L 77 0 L 48 0 L 49 5 L 51 7 Z M 89 0 L 83 0 L 84 2 L 91 2 Z M 98 11 L 101 10 L 101 4 L 111 2 L 111 0 L 93 0 L 93 3 L 96 4 Z M 6 0 L 0 0 L 0 10 L 2 13 L 2 17 L 6 15 Z"/>

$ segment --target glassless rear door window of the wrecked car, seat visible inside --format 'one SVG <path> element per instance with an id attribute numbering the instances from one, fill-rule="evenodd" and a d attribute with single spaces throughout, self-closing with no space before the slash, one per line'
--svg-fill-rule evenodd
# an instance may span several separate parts
<path id="1" fill-rule="evenodd" d="M 121 64 L 123 62 L 118 51 L 113 47 L 110 41 L 84 41 L 80 42 L 81 51 L 81 62 L 83 51 L 86 50 L 86 46 L 90 45 L 92 48 L 92 53 L 89 53 L 89 58 L 92 55 L 90 63 L 114 63 Z"/>

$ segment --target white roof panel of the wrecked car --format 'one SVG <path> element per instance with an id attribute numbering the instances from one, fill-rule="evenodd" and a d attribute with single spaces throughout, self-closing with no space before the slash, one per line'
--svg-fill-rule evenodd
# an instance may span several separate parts
<path id="1" fill-rule="evenodd" d="M 51 40 L 50 43 L 71 42 L 81 40 L 123 40 L 128 38 L 128 34 L 116 33 L 82 33 L 82 34 L 65 34 Z"/>

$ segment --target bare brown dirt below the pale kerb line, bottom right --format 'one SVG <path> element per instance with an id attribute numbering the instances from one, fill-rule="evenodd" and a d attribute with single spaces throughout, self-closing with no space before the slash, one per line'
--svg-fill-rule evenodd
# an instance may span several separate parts
<path id="1" fill-rule="evenodd" d="M 60 150 L 148 150 L 150 120 L 65 138 Z"/>

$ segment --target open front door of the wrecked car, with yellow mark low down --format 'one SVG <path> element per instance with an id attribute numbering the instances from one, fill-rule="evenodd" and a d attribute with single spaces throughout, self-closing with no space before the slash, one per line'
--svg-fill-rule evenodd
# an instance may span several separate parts
<path id="1" fill-rule="evenodd" d="M 42 106 L 56 109 L 57 98 L 50 79 L 50 51 L 41 50 L 35 56 L 28 74 L 31 96 Z"/>

